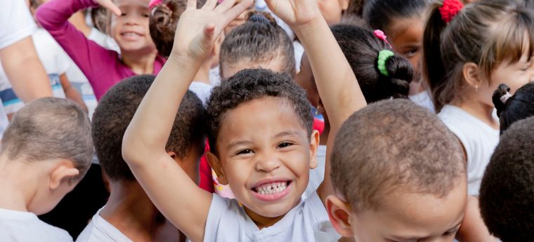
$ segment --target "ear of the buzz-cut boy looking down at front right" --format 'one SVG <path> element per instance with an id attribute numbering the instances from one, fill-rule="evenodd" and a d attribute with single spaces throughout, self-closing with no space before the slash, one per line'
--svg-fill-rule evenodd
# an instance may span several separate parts
<path id="1" fill-rule="evenodd" d="M 349 217 L 352 213 L 349 204 L 339 199 L 337 196 L 328 195 L 326 198 L 326 210 L 328 218 L 336 231 L 344 237 L 354 236 Z"/>

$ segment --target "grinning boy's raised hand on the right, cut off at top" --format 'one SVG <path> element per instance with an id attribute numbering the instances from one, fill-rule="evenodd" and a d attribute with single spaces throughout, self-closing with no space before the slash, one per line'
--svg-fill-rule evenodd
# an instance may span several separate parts
<path id="1" fill-rule="evenodd" d="M 304 25 L 322 18 L 316 0 L 266 0 L 268 8 L 287 25 Z"/>

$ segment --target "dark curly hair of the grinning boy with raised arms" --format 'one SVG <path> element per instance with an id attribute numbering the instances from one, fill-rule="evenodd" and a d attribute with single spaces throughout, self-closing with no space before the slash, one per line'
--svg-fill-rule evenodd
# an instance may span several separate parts
<path id="1" fill-rule="evenodd" d="M 268 69 L 245 69 L 211 90 L 207 103 L 209 148 L 217 153 L 216 141 L 225 114 L 244 102 L 263 97 L 278 97 L 289 101 L 302 128 L 311 135 L 313 116 L 306 92 L 289 74 Z"/>

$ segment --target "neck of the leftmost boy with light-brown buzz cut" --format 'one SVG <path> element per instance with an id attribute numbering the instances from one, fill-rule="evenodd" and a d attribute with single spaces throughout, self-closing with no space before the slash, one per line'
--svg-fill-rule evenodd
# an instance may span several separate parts
<path id="1" fill-rule="evenodd" d="M 34 163 L 35 164 L 35 163 Z M 28 211 L 42 181 L 34 168 L 22 161 L 9 161 L 0 156 L 0 208 Z M 28 179 L 27 177 L 32 177 Z"/>

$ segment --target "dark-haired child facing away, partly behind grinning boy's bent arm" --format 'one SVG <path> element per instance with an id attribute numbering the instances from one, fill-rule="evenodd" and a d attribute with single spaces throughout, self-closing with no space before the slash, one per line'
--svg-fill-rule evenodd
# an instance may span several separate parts
<path id="1" fill-rule="evenodd" d="M 96 107 L 92 135 L 98 161 L 110 179 L 111 194 L 77 241 L 178 241 L 181 238 L 178 229 L 159 213 L 122 159 L 124 131 L 154 79 L 152 75 L 140 75 L 120 81 Z M 195 182 L 198 160 L 204 152 L 204 119 L 202 101 L 188 91 L 166 145 L 167 154 Z"/>

